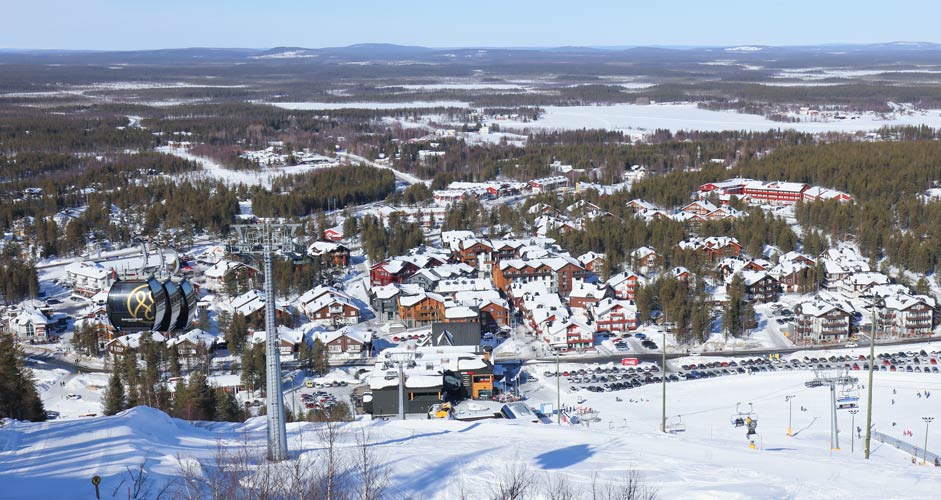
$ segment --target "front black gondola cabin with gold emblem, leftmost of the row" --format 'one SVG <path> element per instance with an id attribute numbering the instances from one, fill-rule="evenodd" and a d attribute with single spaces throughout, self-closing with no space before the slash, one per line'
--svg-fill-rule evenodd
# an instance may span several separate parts
<path id="1" fill-rule="evenodd" d="M 159 331 L 169 308 L 167 290 L 154 278 L 116 281 L 108 291 L 108 320 L 119 331 Z"/>

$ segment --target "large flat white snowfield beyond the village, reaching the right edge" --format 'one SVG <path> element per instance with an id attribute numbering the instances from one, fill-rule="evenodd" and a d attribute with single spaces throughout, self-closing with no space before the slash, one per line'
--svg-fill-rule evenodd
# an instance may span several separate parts
<path id="1" fill-rule="evenodd" d="M 941 127 L 941 112 L 926 111 L 924 114 L 881 115 L 866 113 L 857 119 L 832 120 L 829 122 L 781 123 L 763 116 L 736 113 L 734 111 L 711 111 L 700 109 L 696 104 L 615 104 L 611 106 L 545 106 L 545 114 L 536 121 L 494 120 L 501 129 L 576 130 L 608 129 L 638 134 L 656 129 L 677 130 L 750 130 L 795 129 L 800 132 L 855 132 L 877 130 L 895 125 L 928 125 Z"/>

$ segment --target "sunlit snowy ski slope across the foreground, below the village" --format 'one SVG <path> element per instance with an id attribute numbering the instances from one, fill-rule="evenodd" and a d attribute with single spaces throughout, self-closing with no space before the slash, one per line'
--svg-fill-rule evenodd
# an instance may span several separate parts
<path id="1" fill-rule="evenodd" d="M 522 385 L 531 406 L 555 402 L 555 379 L 542 374 L 554 368 L 527 366 L 541 379 Z M 563 382 L 563 405 L 598 410 L 600 422 L 586 428 L 508 420 L 362 420 L 345 424 L 350 432 L 341 447 L 351 454 L 353 431 L 364 426 L 371 449 L 391 472 L 392 498 L 458 498 L 462 489 L 467 498 L 487 498 L 502 471 L 514 464 L 525 466 L 540 483 L 551 476 L 582 486 L 595 473 L 599 481 L 616 481 L 635 469 L 663 499 L 937 498 L 941 469 L 912 465 L 909 455 L 876 442 L 870 462 L 862 459 L 860 441 L 851 453 L 845 411 L 839 416 L 842 449 L 831 453 L 828 393 L 805 388 L 810 376 L 775 372 L 669 384 L 668 415 L 682 415 L 687 426 L 679 434 L 657 432 L 659 385 L 594 394 L 571 393 Z M 913 437 L 904 439 L 922 443 L 921 417 L 941 410 L 941 377 L 878 373 L 875 387 L 875 429 L 899 438 L 911 430 Z M 916 396 L 926 389 L 937 395 Z M 784 396 L 789 394 L 796 395 L 794 437 L 786 435 Z M 749 449 L 744 430 L 730 423 L 738 402 L 754 405 L 758 450 Z M 865 425 L 864 415 L 862 405 L 857 425 Z M 289 425 L 292 454 L 320 454 L 317 427 Z M 115 488 L 128 466 L 143 464 L 154 481 L 164 482 L 178 473 L 178 458 L 207 466 L 217 445 L 239 447 L 247 440 L 263 446 L 264 439 L 263 419 L 194 425 L 144 407 L 115 417 L 8 423 L 0 428 L 0 498 L 89 498 L 89 478 L 95 474 L 102 476 L 102 498 L 124 498 L 124 489 L 115 493 Z M 936 430 L 929 449 L 939 448 L 941 430 Z"/>

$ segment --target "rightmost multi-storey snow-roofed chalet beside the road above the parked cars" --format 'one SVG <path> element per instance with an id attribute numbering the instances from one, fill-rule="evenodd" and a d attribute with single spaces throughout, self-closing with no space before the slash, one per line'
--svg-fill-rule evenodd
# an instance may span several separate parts
<path id="1" fill-rule="evenodd" d="M 897 294 L 876 302 L 876 338 L 928 337 L 934 329 L 935 300 Z"/>

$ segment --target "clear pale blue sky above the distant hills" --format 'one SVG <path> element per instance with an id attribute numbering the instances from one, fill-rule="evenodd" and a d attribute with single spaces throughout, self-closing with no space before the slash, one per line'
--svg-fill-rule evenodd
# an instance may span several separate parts
<path id="1" fill-rule="evenodd" d="M 922 0 L 8 0 L 0 48 L 941 42 Z"/>

